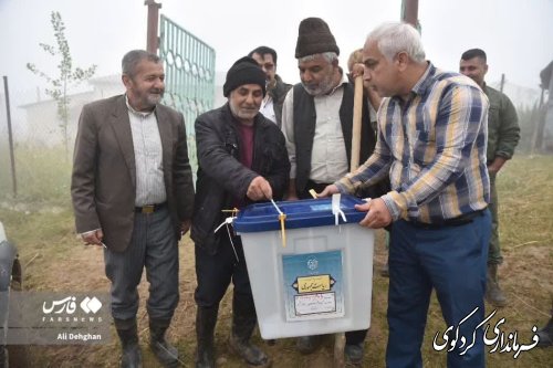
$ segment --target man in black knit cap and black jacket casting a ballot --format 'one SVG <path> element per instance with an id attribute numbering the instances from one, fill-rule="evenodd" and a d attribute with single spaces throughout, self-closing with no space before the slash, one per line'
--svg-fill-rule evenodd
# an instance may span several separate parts
<path id="1" fill-rule="evenodd" d="M 215 367 L 213 330 L 219 303 L 231 280 L 234 288 L 229 346 L 249 365 L 271 364 L 250 343 L 257 317 L 240 236 L 219 227 L 229 215 L 223 210 L 279 200 L 286 189 L 290 162 L 284 137 L 259 113 L 264 94 L 264 72 L 253 59 L 244 56 L 227 73 L 223 95 L 228 103 L 196 119 L 198 189 L 190 231 L 198 280 L 196 367 Z"/>

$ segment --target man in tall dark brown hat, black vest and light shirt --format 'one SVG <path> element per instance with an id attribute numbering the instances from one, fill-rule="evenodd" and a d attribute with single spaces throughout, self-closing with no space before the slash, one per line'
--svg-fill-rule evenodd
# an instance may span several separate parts
<path id="1" fill-rule="evenodd" d="M 300 23 L 295 57 L 301 83 L 286 95 L 282 111 L 282 132 L 290 157 L 290 200 L 311 198 L 310 189 L 322 191 L 348 172 L 354 86 L 338 66 L 340 49 L 328 25 L 320 18 Z M 376 138 L 363 102 L 359 160 L 373 153 Z M 366 197 L 375 197 L 364 193 Z M 346 359 L 361 364 L 367 330 L 346 333 Z M 298 339 L 304 354 L 314 351 L 321 336 Z"/>

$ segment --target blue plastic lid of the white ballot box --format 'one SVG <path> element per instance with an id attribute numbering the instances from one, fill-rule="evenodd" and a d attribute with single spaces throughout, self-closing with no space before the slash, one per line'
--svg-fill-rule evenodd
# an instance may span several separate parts
<path id="1" fill-rule="evenodd" d="M 357 211 L 354 206 L 364 203 L 359 198 L 342 194 L 340 209 L 347 222 L 338 215 L 338 223 L 356 224 L 366 212 Z M 276 202 L 279 209 L 286 215 L 286 229 L 326 227 L 335 224 L 332 213 L 332 198 L 305 199 L 299 201 Z M 250 204 L 238 213 L 233 222 L 238 232 L 261 232 L 280 230 L 279 212 L 271 202 Z"/>

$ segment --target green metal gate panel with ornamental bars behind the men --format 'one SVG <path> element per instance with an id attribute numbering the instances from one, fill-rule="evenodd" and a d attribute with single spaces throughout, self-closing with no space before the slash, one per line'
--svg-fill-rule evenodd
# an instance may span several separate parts
<path id="1" fill-rule="evenodd" d="M 213 106 L 215 50 L 160 15 L 159 56 L 165 67 L 164 103 L 185 116 L 188 154 L 197 169 L 194 122 Z"/>

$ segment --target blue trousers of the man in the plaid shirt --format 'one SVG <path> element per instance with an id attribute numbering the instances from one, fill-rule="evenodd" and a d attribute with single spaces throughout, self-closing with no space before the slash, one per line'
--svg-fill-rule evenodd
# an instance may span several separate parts
<path id="1" fill-rule="evenodd" d="M 472 341 L 476 326 L 484 318 L 490 231 L 488 210 L 472 222 L 456 227 L 427 229 L 404 220 L 394 223 L 389 248 L 387 367 L 422 367 L 420 347 L 432 287 L 447 326 L 453 327 L 453 334 L 459 328 L 459 339 L 465 336 L 467 345 Z M 478 311 L 459 325 L 477 307 Z M 440 332 L 439 337 L 442 335 Z M 460 353 L 467 346 L 459 348 L 458 343 L 448 353 L 448 367 L 483 368 L 482 335 L 479 328 L 474 346 L 463 355 Z M 442 351 L 448 349 L 449 346 Z"/>

